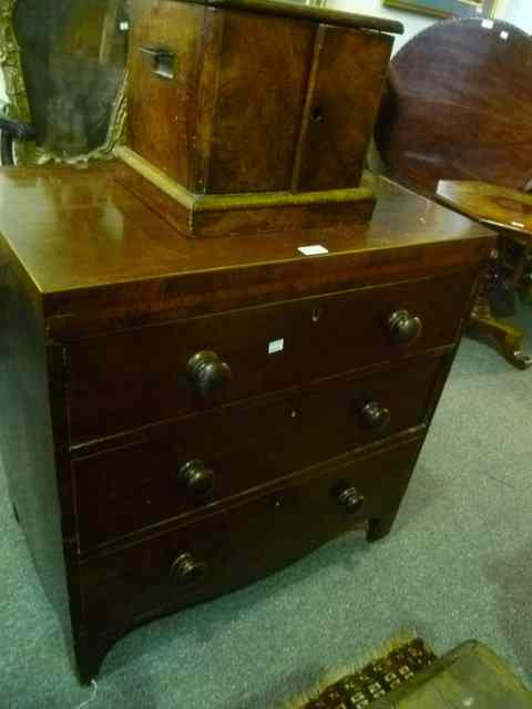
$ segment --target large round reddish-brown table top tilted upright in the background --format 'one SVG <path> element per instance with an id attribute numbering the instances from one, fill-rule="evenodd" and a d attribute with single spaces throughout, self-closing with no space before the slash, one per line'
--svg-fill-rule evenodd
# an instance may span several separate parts
<path id="1" fill-rule="evenodd" d="M 532 178 L 532 39 L 477 19 L 417 34 L 391 62 L 376 143 L 391 176 L 426 195 L 439 179 L 524 188 Z"/>

